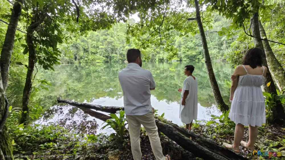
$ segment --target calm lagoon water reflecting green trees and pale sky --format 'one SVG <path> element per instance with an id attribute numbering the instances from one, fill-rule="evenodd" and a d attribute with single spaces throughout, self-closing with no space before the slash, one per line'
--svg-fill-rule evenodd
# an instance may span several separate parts
<path id="1" fill-rule="evenodd" d="M 156 81 L 156 89 L 151 91 L 152 107 L 158 110 L 158 114 L 164 113 L 164 117 L 173 123 L 182 125 L 179 119 L 180 93 L 182 88 L 185 65 L 194 65 L 193 75 L 198 80 L 198 120 L 210 120 L 211 115 L 221 115 L 215 106 L 215 100 L 211 91 L 207 69 L 204 63 L 168 62 L 168 63 L 144 63 L 143 68 L 152 71 Z M 46 79 L 52 84 L 49 90 L 42 90 L 41 105 L 50 106 L 50 102 L 57 97 L 78 102 L 100 104 L 102 106 L 123 106 L 123 93 L 119 84 L 118 72 L 127 66 L 126 63 L 96 63 L 92 65 L 57 65 L 55 71 L 40 69 L 37 77 Z M 213 70 L 219 89 L 225 101 L 229 99 L 230 75 L 233 69 L 227 63 L 214 63 Z M 68 112 L 65 110 L 64 112 Z M 104 112 L 102 112 L 104 113 Z M 108 114 L 108 113 L 105 113 Z M 56 122 L 62 118 L 54 115 L 48 122 Z M 75 116 L 75 120 L 80 120 Z M 94 119 L 89 117 L 88 120 Z M 103 121 L 96 119 L 99 124 L 97 134 L 111 133 L 110 129 L 100 130 Z M 44 124 L 46 122 L 42 122 Z"/>

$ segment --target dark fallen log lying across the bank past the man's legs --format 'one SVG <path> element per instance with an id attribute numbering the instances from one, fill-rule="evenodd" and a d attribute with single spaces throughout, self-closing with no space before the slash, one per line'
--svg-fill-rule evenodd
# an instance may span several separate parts
<path id="1" fill-rule="evenodd" d="M 67 103 L 73 106 L 76 106 L 80 109 L 82 108 L 96 108 L 96 110 L 114 113 L 114 111 L 123 107 L 111 107 L 111 110 L 107 110 L 105 107 L 99 105 L 93 105 L 88 103 L 78 103 L 73 102 L 71 100 L 62 100 L 58 98 L 58 103 Z M 75 104 L 75 105 L 74 105 Z M 78 105 L 80 104 L 80 105 Z M 86 110 L 85 108 L 85 110 Z M 83 110 L 84 111 L 84 110 Z M 107 115 L 93 111 L 88 109 L 84 111 L 90 116 L 98 118 L 100 120 L 106 121 L 109 119 Z M 105 115 L 105 116 L 104 116 Z M 185 128 L 179 127 L 177 124 L 173 124 L 172 122 L 165 120 L 163 118 L 157 117 L 156 126 L 158 130 L 162 132 L 165 136 L 175 141 L 178 145 L 180 145 L 183 149 L 190 151 L 195 156 L 203 158 L 205 160 L 247 160 L 247 158 L 234 153 L 233 151 L 219 145 L 218 143 L 204 138 L 194 132 L 188 131 Z M 192 140 L 189 139 L 192 137 Z"/>

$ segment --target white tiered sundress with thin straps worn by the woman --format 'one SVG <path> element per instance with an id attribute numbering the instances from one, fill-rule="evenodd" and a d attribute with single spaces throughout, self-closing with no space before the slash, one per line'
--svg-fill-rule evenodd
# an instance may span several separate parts
<path id="1" fill-rule="evenodd" d="M 245 66 L 243 65 L 244 69 Z M 263 73 L 264 73 L 264 66 Z M 247 69 L 245 69 L 247 72 Z M 262 75 L 239 76 L 239 82 L 233 96 L 229 118 L 235 124 L 245 126 L 262 126 L 266 123 L 265 103 L 261 87 L 264 77 Z"/>

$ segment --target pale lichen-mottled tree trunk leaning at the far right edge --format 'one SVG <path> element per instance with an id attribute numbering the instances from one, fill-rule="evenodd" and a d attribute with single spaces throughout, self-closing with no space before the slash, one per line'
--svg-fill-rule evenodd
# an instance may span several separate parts
<path id="1" fill-rule="evenodd" d="M 268 62 L 268 69 L 272 73 L 273 78 L 276 81 L 276 84 L 280 91 L 285 89 L 285 71 L 279 61 L 276 59 L 269 42 L 266 37 L 265 30 L 260 21 L 258 21 L 260 36 L 265 39 L 262 41 L 264 46 L 264 51 L 266 54 L 266 60 Z"/>

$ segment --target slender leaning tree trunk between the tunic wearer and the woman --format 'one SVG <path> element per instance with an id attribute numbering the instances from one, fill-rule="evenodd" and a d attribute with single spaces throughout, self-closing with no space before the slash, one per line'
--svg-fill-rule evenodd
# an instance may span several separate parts
<path id="1" fill-rule="evenodd" d="M 209 50 L 208 50 L 208 46 L 207 46 L 207 40 L 206 40 L 203 25 L 201 22 L 198 0 L 195 0 L 195 7 L 196 7 L 196 21 L 198 23 L 198 28 L 200 31 L 200 36 L 201 36 L 201 41 L 202 41 L 202 46 L 203 46 L 203 52 L 204 52 L 204 57 L 205 57 L 205 63 L 206 63 L 207 72 L 209 75 L 209 80 L 211 83 L 213 95 L 214 95 L 216 104 L 219 106 L 219 108 L 221 108 L 221 111 L 227 111 L 227 110 L 229 110 L 229 106 L 227 104 L 225 104 L 225 102 L 223 101 L 223 98 L 222 98 L 222 95 L 220 93 L 219 86 L 218 86 L 218 83 L 216 81 L 215 74 L 213 71 L 212 62 L 211 62 L 211 58 L 210 58 L 210 54 L 209 54 Z"/>

